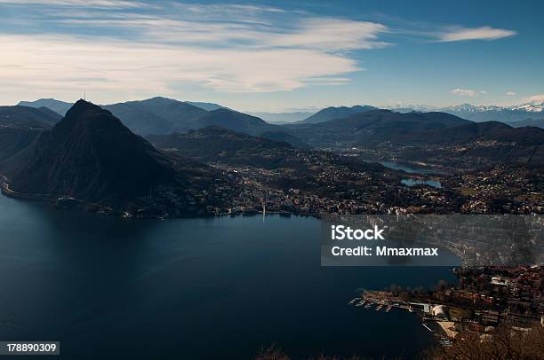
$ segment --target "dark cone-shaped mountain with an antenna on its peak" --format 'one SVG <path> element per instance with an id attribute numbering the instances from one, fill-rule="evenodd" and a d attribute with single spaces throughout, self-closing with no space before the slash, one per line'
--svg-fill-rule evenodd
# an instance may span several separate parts
<path id="1" fill-rule="evenodd" d="M 11 159 L 8 176 L 15 192 L 111 204 L 180 180 L 167 157 L 107 110 L 84 100 Z"/>

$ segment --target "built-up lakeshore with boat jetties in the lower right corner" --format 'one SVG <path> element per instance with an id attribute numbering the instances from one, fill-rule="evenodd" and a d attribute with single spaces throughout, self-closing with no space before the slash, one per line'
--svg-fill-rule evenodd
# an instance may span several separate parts
<path id="1" fill-rule="evenodd" d="M 544 269 L 539 265 L 457 268 L 457 285 L 441 282 L 432 289 L 389 286 L 362 290 L 350 304 L 385 312 L 406 310 L 447 346 L 454 338 L 492 339 L 500 328 L 526 334 L 544 326 Z M 362 305 L 363 306 L 363 305 Z"/>

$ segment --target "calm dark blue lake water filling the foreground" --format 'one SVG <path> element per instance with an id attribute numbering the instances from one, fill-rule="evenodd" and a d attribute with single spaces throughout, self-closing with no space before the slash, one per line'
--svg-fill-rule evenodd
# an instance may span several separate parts
<path id="1" fill-rule="evenodd" d="M 0 196 L 0 340 L 67 359 L 415 357 L 411 313 L 348 307 L 357 288 L 454 281 L 444 268 L 322 268 L 320 223 L 277 215 L 124 220 Z"/>

